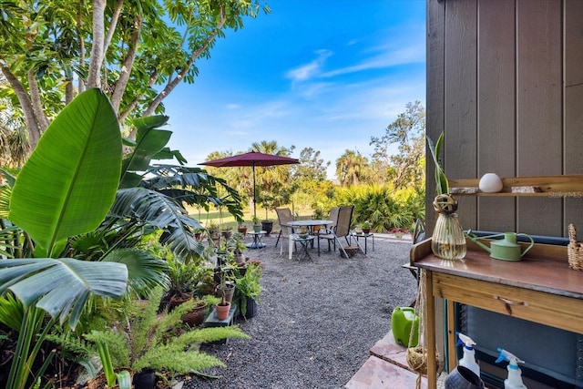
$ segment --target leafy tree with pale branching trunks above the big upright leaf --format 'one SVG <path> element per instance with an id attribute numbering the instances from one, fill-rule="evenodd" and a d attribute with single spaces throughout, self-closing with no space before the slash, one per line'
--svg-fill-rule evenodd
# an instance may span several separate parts
<path id="1" fill-rule="evenodd" d="M 196 60 L 225 30 L 271 11 L 264 0 L 0 4 L 0 98 L 24 118 L 31 148 L 87 87 L 107 93 L 122 125 L 163 112 L 164 98 L 194 82 Z"/>

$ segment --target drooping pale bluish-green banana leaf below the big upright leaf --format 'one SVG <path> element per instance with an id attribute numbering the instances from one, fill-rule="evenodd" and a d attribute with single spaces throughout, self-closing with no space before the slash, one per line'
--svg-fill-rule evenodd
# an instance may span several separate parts
<path id="1" fill-rule="evenodd" d="M 51 316 L 75 328 L 90 293 L 119 297 L 126 292 L 128 269 L 115 262 L 38 258 L 0 261 L 0 293 L 7 289 L 25 305 L 36 302 Z"/>

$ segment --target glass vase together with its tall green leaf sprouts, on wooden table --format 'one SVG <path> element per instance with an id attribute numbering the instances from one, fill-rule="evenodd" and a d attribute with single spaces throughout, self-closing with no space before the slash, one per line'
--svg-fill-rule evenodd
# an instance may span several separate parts
<path id="1" fill-rule="evenodd" d="M 437 196 L 434 200 L 434 210 L 437 212 L 431 250 L 435 256 L 444 260 L 461 260 L 465 257 L 465 236 L 459 220 L 457 219 L 457 200 L 449 193 L 449 185 L 445 172 L 439 165 L 439 151 L 444 142 L 442 132 L 437 142 L 433 143 L 427 137 L 427 143 L 435 162 L 435 189 Z"/>

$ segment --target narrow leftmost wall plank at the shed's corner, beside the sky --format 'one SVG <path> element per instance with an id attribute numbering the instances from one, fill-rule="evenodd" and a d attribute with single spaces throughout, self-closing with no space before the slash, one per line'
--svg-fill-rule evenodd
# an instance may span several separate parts
<path id="1" fill-rule="evenodd" d="M 427 1 L 427 102 L 426 133 L 437 140 L 444 130 L 444 56 L 445 56 L 445 2 Z M 425 170 L 425 230 L 431 235 L 435 226 L 435 211 L 432 201 L 435 197 L 434 164 L 426 149 Z"/>

